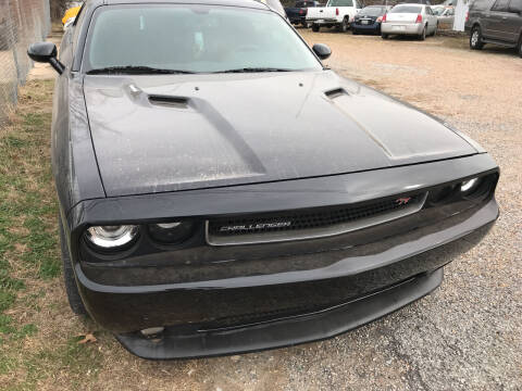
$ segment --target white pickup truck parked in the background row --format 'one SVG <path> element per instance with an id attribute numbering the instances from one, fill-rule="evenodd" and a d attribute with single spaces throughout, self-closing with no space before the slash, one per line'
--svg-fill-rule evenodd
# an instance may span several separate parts
<path id="1" fill-rule="evenodd" d="M 361 9 L 360 0 L 328 0 L 326 7 L 308 9 L 307 22 L 312 24 L 313 31 L 334 26 L 339 31 L 346 31 Z"/>

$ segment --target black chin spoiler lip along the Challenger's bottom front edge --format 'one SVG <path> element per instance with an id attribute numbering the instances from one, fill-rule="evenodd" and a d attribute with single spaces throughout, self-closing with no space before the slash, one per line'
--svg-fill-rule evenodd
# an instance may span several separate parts
<path id="1" fill-rule="evenodd" d="M 159 339 L 116 335 L 142 358 L 194 358 L 252 352 L 331 338 L 355 329 L 418 300 L 443 281 L 443 268 L 424 273 L 380 292 L 313 313 L 213 330 L 167 328 Z"/>

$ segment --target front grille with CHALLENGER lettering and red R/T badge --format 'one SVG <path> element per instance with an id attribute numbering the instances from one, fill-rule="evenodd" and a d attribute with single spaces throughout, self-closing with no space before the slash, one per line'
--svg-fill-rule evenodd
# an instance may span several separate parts
<path id="1" fill-rule="evenodd" d="M 226 245 L 338 235 L 414 213 L 425 198 L 422 193 L 362 205 L 215 218 L 207 222 L 207 240 Z"/>

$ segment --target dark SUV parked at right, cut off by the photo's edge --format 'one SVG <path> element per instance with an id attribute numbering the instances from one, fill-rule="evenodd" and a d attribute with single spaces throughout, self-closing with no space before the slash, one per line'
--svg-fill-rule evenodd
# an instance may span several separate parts
<path id="1" fill-rule="evenodd" d="M 494 43 L 517 48 L 522 56 L 522 0 L 476 0 L 470 7 L 465 29 L 471 49 Z"/>

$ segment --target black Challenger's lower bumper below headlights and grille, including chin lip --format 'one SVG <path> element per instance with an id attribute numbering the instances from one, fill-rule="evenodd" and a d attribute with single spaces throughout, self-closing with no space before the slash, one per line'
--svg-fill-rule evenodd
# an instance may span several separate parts
<path id="1" fill-rule="evenodd" d="M 497 216 L 498 206 L 492 199 L 480 209 L 448 218 L 446 227 L 417 229 L 401 242 L 390 237 L 391 245 L 383 240 L 357 249 L 360 255 L 352 253 L 315 269 L 107 286 L 87 278 L 77 264 L 76 276 L 94 319 L 113 330 L 138 356 L 179 358 L 257 351 L 335 336 L 422 298 L 440 283 L 440 268 L 478 242 Z M 344 255 L 344 251 L 356 250 L 335 253 Z M 319 262 L 328 254 L 309 256 Z M 160 342 L 137 331 L 163 326 L 166 331 Z"/>

